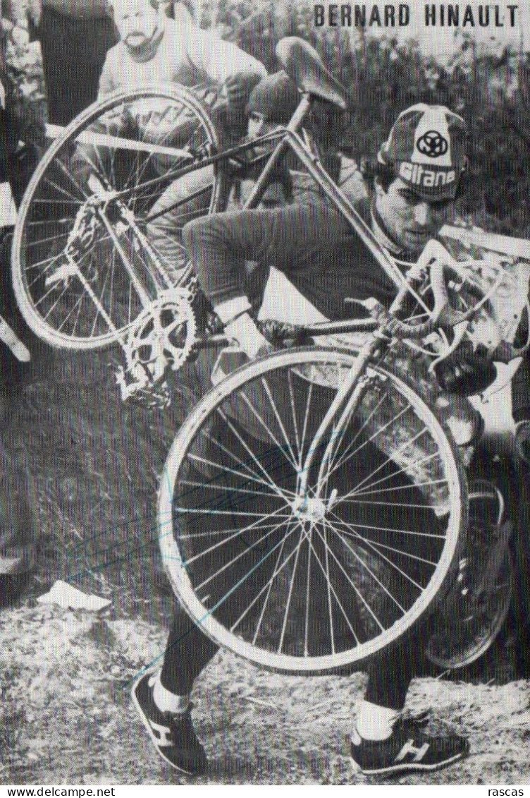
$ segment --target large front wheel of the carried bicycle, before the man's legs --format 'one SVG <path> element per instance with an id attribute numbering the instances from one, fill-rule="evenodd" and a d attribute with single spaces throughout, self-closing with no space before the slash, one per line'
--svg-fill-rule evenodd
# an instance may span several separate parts
<path id="1" fill-rule="evenodd" d="M 311 492 L 315 468 L 305 504 L 296 496 L 330 368 L 344 375 L 351 362 L 289 353 L 236 373 L 186 421 L 163 473 L 160 544 L 175 592 L 215 642 L 274 670 L 333 670 L 383 649 L 430 607 L 457 551 L 452 448 L 388 373 L 371 371 L 323 494 Z"/>

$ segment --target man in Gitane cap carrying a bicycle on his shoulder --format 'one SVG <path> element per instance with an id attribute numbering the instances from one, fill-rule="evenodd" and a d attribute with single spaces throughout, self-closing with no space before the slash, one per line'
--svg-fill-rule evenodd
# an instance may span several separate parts
<path id="1" fill-rule="evenodd" d="M 351 197 L 379 243 L 401 262 L 415 262 L 429 239 L 453 213 L 465 171 L 464 120 L 442 106 L 414 105 L 396 120 L 379 150 L 367 197 Z M 434 142 L 434 144 L 433 144 Z M 436 145 L 436 146 L 434 146 Z M 184 243 L 202 290 L 226 334 L 253 358 L 267 341 L 249 314 L 245 262 L 276 269 L 272 318 L 318 322 L 351 317 L 344 298 L 375 297 L 389 305 L 395 286 L 351 232 L 338 211 L 308 193 L 303 204 L 227 212 L 197 219 L 184 228 Z M 286 286 L 289 286 L 286 288 Z M 473 424 L 473 417 L 467 420 Z M 367 692 L 351 735 L 351 758 L 363 772 L 392 774 L 432 770 L 464 757 L 468 742 L 450 734 L 429 737 L 421 721 L 402 709 L 410 680 L 422 660 L 422 638 L 378 654 L 368 667 Z M 163 666 L 132 688 L 135 706 L 159 754 L 186 773 L 206 768 L 194 733 L 189 695 L 218 647 L 184 610 L 173 618 Z"/>

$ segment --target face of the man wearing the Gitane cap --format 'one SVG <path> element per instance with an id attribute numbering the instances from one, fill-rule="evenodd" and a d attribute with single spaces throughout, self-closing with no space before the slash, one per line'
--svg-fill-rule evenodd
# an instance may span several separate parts
<path id="1" fill-rule="evenodd" d="M 454 200 L 427 201 L 397 177 L 385 192 L 375 183 L 375 209 L 391 239 L 410 252 L 422 251 L 453 215 Z"/>

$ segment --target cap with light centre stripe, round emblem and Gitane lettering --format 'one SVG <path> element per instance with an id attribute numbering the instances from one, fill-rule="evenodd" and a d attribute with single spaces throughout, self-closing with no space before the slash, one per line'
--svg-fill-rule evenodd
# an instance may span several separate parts
<path id="1" fill-rule="evenodd" d="M 424 199 L 454 199 L 466 168 L 465 121 L 445 105 L 412 105 L 399 114 L 378 160 Z"/>

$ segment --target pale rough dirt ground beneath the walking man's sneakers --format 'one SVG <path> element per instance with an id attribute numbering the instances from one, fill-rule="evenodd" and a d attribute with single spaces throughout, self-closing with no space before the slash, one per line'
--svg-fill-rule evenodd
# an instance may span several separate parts
<path id="1" fill-rule="evenodd" d="M 469 736 L 469 758 L 397 782 L 351 772 L 347 733 L 362 674 L 281 677 L 219 654 L 194 691 L 210 760 L 186 780 L 159 759 L 129 681 L 163 650 L 159 626 L 37 606 L 0 616 L 2 784 L 529 784 L 530 686 L 414 681 L 407 708 Z"/>

